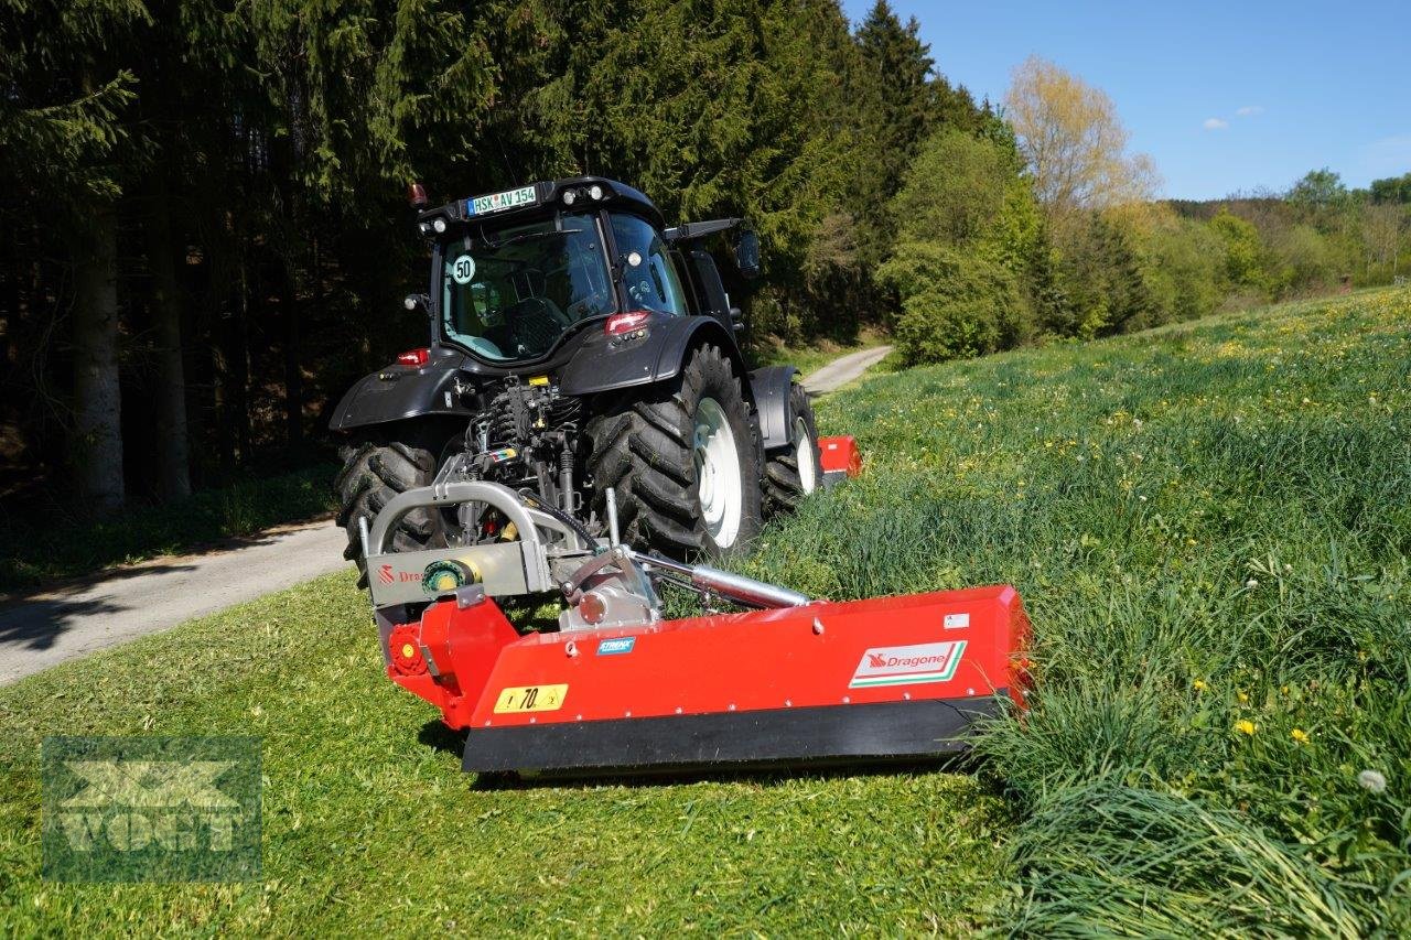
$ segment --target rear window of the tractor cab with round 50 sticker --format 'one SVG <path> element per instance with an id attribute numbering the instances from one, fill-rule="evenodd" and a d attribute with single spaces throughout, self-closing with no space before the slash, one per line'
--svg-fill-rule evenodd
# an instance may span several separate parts
<path id="1" fill-rule="evenodd" d="M 594 216 L 488 234 L 442 248 L 442 325 L 456 343 L 485 358 L 535 358 L 574 323 L 617 309 Z"/>

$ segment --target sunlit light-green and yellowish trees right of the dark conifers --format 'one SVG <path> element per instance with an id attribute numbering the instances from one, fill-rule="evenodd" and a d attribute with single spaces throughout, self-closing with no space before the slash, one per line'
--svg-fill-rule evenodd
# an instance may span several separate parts
<path id="1" fill-rule="evenodd" d="M 1089 339 L 1305 294 L 1388 284 L 1405 265 L 1411 174 L 1348 189 L 1154 198 L 1112 100 L 1051 62 L 1013 75 L 978 134 L 926 138 L 890 203 L 878 271 L 910 363 Z"/>

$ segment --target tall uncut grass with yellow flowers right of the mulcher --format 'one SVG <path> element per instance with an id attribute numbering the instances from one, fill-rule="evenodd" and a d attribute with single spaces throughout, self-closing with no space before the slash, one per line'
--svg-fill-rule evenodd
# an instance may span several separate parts
<path id="1" fill-rule="evenodd" d="M 824 405 L 868 477 L 756 570 L 1029 605 L 1034 709 L 978 748 L 1016 930 L 1411 932 L 1408 337 L 1411 295 L 1364 294 Z"/>

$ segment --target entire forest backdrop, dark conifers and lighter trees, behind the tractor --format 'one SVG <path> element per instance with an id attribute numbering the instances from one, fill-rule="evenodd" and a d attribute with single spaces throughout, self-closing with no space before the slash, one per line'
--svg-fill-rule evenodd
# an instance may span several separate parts
<path id="1" fill-rule="evenodd" d="M 0 518 L 326 454 L 425 330 L 413 181 L 745 216 L 755 339 L 875 326 L 909 364 L 1407 271 L 1411 174 L 1165 202 L 1079 76 L 991 102 L 944 65 L 886 0 L 0 0 Z"/>

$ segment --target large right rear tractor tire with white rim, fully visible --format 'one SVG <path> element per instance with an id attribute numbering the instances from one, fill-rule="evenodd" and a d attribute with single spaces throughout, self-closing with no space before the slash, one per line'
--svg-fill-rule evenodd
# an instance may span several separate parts
<path id="1" fill-rule="evenodd" d="M 629 545 L 722 556 L 759 534 L 759 439 L 717 347 L 697 349 L 676 381 L 618 399 L 587 432 L 594 510 L 607 518 L 612 487 Z"/>

